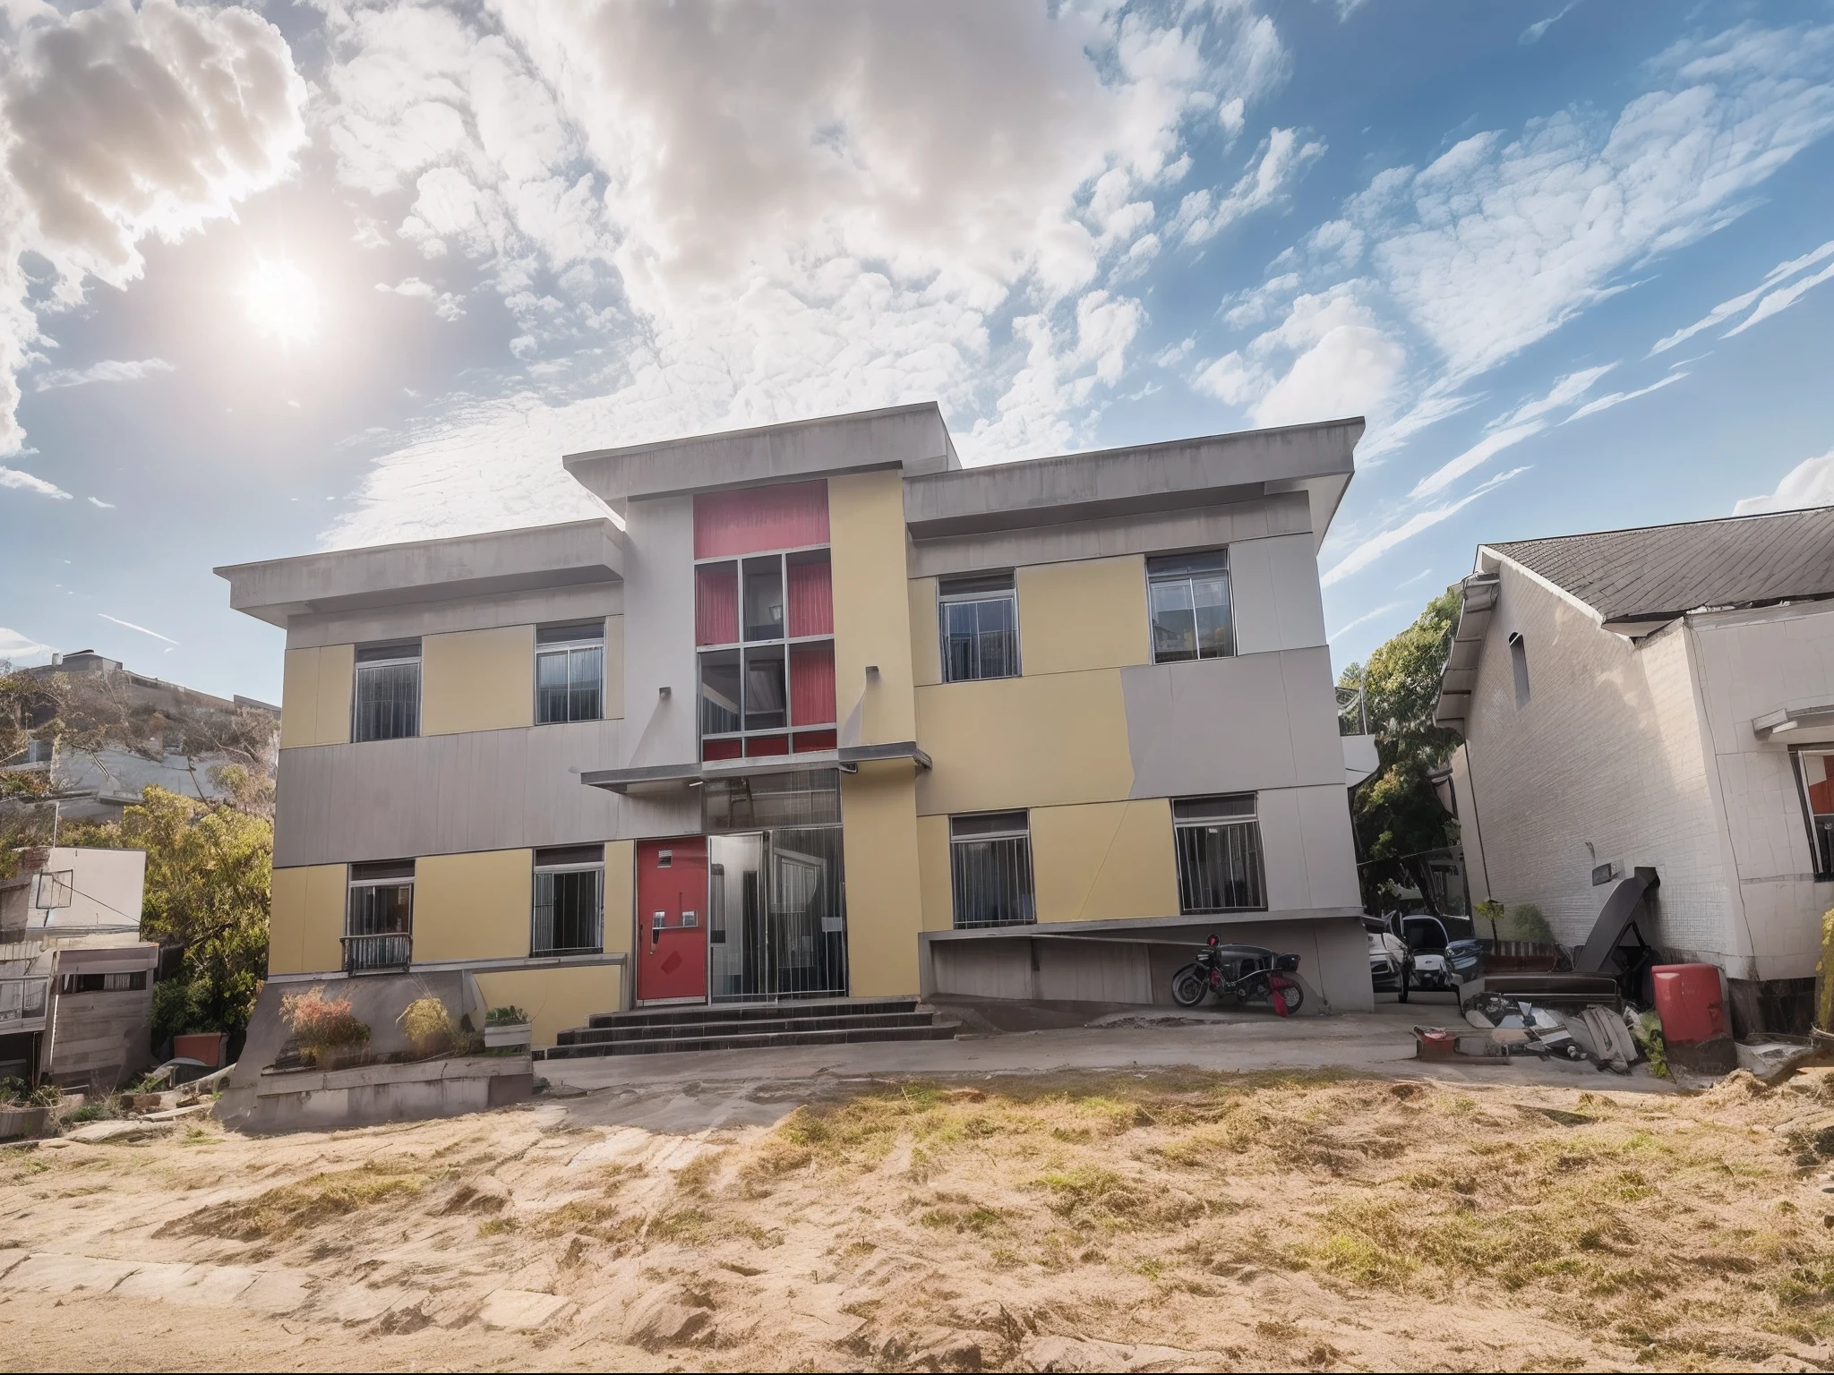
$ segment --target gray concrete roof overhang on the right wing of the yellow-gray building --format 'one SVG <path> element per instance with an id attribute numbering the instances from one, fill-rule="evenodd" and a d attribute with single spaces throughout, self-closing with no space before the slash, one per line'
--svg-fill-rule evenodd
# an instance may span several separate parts
<path id="1" fill-rule="evenodd" d="M 913 473 L 911 539 L 948 539 L 1152 512 L 1183 512 L 1302 491 L 1322 541 L 1355 471 L 1361 416 L 1124 449 Z"/>

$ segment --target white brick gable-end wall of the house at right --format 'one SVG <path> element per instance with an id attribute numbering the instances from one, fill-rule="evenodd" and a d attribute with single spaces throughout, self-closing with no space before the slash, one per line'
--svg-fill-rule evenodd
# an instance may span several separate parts
<path id="1" fill-rule="evenodd" d="M 1603 631 L 1590 612 L 1502 563 L 1497 614 L 1471 702 L 1469 779 L 1482 816 L 1482 865 L 1493 896 L 1535 902 L 1563 942 L 1585 940 L 1610 893 L 1594 864 L 1640 864 L 1662 874 L 1656 930 L 1671 953 L 1737 962 L 1726 843 L 1682 625 L 1641 645 Z M 1528 649 L 1530 702 L 1515 706 L 1508 638 Z M 1586 842 L 1592 849 L 1586 849 Z M 1729 968 L 1731 974 L 1740 974 Z"/>

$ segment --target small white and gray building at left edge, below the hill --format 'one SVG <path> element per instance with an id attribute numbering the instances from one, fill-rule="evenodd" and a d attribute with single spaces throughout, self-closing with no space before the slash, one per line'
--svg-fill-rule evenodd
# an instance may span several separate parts
<path id="1" fill-rule="evenodd" d="M 150 1060 L 147 852 L 37 847 L 0 880 L 0 1078 L 106 1093 Z"/>

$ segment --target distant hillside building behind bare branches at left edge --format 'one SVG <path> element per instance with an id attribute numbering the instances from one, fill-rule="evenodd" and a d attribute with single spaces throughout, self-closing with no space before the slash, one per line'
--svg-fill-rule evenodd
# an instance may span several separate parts
<path id="1" fill-rule="evenodd" d="M 139 801 L 147 786 L 160 786 L 185 798 L 222 799 L 224 788 L 215 770 L 233 763 L 231 755 L 194 748 L 194 741 L 220 733 L 238 711 L 253 710 L 273 717 L 281 710 L 251 697 L 213 697 L 161 678 L 149 678 L 103 658 L 94 649 L 57 654 L 50 664 L 22 669 L 39 680 L 79 680 L 84 689 L 119 710 L 123 719 L 145 724 L 145 741 L 127 741 L 88 752 L 61 741 L 33 741 L 22 754 L 0 763 L 7 772 L 50 776 L 44 801 L 57 801 L 59 816 L 72 821 L 117 821 L 121 810 Z M 271 766 L 271 759 L 270 759 Z M 15 807 L 20 803 L 15 803 Z M 39 805 L 37 799 L 35 803 Z"/>

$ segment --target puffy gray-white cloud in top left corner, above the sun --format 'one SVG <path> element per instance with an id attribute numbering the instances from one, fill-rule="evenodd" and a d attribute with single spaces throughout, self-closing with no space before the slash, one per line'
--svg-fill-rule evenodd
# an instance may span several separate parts
<path id="1" fill-rule="evenodd" d="M 0 70 L 0 455 L 24 442 L 18 372 L 39 337 L 20 257 L 51 264 L 51 306 L 88 279 L 139 277 L 176 240 L 292 169 L 304 82 L 281 31 L 227 6 L 40 7 Z"/>

